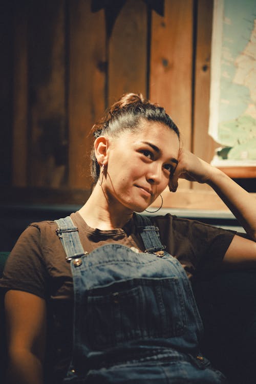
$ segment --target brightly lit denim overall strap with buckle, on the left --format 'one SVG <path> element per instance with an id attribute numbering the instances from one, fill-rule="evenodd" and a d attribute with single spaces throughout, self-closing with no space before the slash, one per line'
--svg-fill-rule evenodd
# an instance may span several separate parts
<path id="1" fill-rule="evenodd" d="M 66 252 L 66 260 L 68 262 L 87 254 L 83 250 L 78 235 L 78 228 L 74 225 L 70 216 L 67 216 L 65 219 L 55 220 L 55 223 L 58 226 L 56 233 Z"/>

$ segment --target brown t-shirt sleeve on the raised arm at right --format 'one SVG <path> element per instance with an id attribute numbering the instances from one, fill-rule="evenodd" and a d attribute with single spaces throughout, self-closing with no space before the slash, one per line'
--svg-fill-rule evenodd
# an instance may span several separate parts
<path id="1" fill-rule="evenodd" d="M 169 214 L 157 217 L 156 224 L 168 252 L 181 262 L 189 276 L 217 270 L 236 234 Z"/>

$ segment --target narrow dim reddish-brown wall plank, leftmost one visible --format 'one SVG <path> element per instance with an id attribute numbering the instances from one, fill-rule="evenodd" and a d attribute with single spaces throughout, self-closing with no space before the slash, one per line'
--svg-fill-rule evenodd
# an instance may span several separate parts
<path id="1" fill-rule="evenodd" d="M 27 186 L 28 19 L 27 4 L 16 2 L 13 24 L 12 185 Z"/>

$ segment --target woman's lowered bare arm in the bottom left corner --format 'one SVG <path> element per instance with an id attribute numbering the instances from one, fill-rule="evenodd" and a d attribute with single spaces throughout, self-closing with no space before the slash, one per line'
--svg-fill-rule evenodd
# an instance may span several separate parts
<path id="1" fill-rule="evenodd" d="M 5 295 L 8 384 L 42 384 L 46 340 L 46 303 L 23 291 Z"/>

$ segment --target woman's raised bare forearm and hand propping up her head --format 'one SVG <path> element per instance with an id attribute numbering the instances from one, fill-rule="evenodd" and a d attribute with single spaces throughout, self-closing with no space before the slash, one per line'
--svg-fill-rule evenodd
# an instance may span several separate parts
<path id="1" fill-rule="evenodd" d="M 250 238 L 256 241 L 256 199 L 245 189 L 220 169 L 183 149 L 180 150 L 178 165 L 169 182 L 171 191 L 176 191 L 179 178 L 211 186 L 238 219 Z"/>

